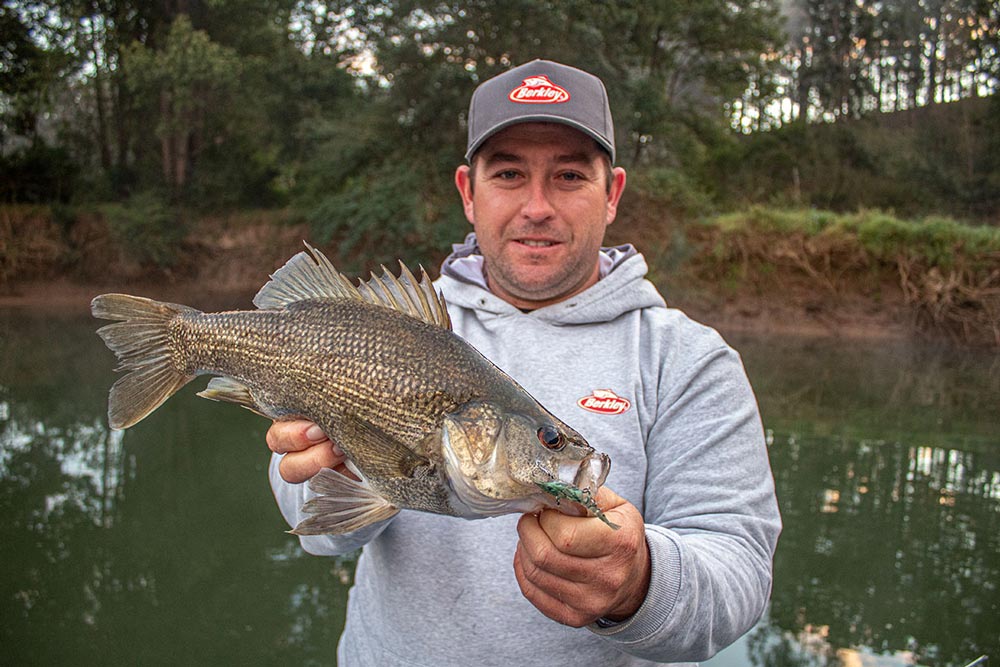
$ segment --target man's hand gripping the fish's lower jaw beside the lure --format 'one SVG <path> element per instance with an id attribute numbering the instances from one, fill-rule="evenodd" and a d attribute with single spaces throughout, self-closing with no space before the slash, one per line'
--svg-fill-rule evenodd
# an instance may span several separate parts
<path id="1" fill-rule="evenodd" d="M 521 592 L 549 618 L 577 628 L 598 618 L 628 618 L 649 589 L 649 547 L 639 510 L 604 487 L 595 500 L 621 528 L 552 509 L 525 514 L 517 524 L 514 575 Z"/>

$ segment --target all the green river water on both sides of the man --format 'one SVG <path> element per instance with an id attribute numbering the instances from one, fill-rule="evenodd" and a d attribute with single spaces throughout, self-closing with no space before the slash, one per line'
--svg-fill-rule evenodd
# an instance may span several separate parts
<path id="1" fill-rule="evenodd" d="M 330 664 L 350 560 L 302 553 L 266 421 L 195 382 L 124 435 L 89 318 L 0 311 L 9 664 Z M 712 667 L 1000 660 L 1000 354 L 734 339 L 785 521 L 767 617 Z"/>

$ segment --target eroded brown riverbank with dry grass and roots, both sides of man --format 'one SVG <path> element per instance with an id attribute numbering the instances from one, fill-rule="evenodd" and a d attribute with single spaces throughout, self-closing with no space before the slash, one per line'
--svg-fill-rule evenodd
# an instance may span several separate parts
<path id="1" fill-rule="evenodd" d="M 627 231 L 638 239 L 657 239 L 637 245 L 669 305 L 725 336 L 1000 346 L 1000 314 L 990 310 L 1000 306 L 1000 255 L 991 255 L 994 264 L 985 266 L 961 257 L 956 264 L 949 255 L 951 264 L 945 266 L 944 260 L 927 260 L 917 242 L 880 254 L 859 241 L 857 233 L 845 231 L 855 224 L 846 218 L 831 218 L 810 231 L 793 228 L 787 220 L 776 223 L 768 215 L 751 211 L 738 220 L 646 232 L 630 224 Z M 273 218 L 206 219 L 180 242 L 177 261 L 158 267 L 123 251 L 97 218 L 79 219 L 67 231 L 43 214 L 21 215 L 15 236 L 6 217 L 7 270 L 0 282 L 0 308 L 79 315 L 104 292 L 206 310 L 250 308 L 268 275 L 311 237 L 306 226 L 276 224 Z M 441 259 L 421 261 L 433 274 Z M 901 273 L 904 269 L 908 273 Z M 976 280 L 974 294 L 967 285 Z"/>

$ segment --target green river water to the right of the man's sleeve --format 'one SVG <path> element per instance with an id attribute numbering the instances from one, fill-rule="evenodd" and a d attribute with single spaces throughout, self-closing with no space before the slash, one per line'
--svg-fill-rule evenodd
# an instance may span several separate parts
<path id="1" fill-rule="evenodd" d="M 742 349 L 785 530 L 768 618 L 733 664 L 1000 656 L 1000 356 Z"/>

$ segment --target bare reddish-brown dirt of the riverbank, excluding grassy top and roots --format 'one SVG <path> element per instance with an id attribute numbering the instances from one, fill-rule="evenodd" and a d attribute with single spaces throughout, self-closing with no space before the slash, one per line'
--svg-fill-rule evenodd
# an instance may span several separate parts
<path id="1" fill-rule="evenodd" d="M 41 213 L 5 216 L 10 224 L 3 248 L 7 255 L 0 262 L 5 267 L 0 275 L 0 308 L 80 315 L 89 311 L 95 295 L 104 292 L 128 292 L 207 310 L 252 307 L 251 298 L 267 276 L 302 249 L 302 239 L 310 238 L 304 226 L 275 224 L 271 219 L 203 220 L 183 242 L 177 262 L 169 269 L 157 269 L 117 247 L 99 219 L 81 218 L 67 231 Z M 891 279 L 877 285 L 868 278 L 817 284 L 794 267 L 775 265 L 770 273 L 750 272 L 734 280 L 721 275 L 717 264 L 708 269 L 699 266 L 697 258 L 678 269 L 658 268 L 653 259 L 656 249 L 641 242 L 638 246 L 650 258 L 654 282 L 668 303 L 724 335 L 954 339 L 920 326 L 899 284 Z M 436 267 L 440 259 L 430 258 L 426 265 Z"/>

